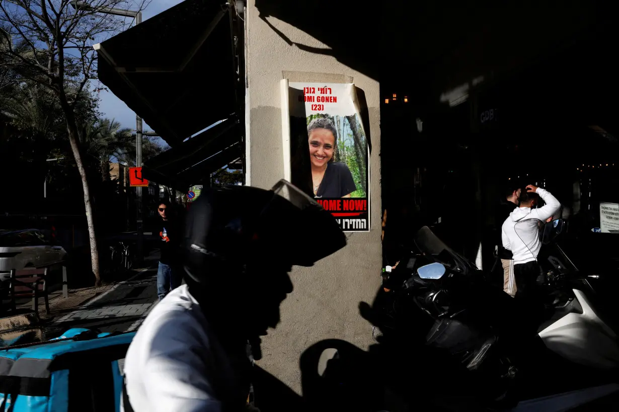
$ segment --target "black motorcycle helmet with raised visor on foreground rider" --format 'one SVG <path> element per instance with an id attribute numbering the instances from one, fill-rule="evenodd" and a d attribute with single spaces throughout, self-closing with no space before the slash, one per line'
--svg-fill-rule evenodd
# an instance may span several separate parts
<path id="1" fill-rule="evenodd" d="M 334 217 L 285 180 L 271 190 L 213 188 L 189 209 L 183 266 L 201 283 L 210 267 L 243 270 L 256 253 L 288 266 L 312 266 L 345 245 Z"/>

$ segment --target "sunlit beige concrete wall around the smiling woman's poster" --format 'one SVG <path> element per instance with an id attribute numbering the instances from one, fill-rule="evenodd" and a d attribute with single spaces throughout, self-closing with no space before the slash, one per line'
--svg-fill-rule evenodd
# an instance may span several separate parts
<path id="1" fill-rule="evenodd" d="M 327 49 L 301 30 L 275 19 L 267 20 L 293 43 Z M 262 368 L 300 393 L 298 360 L 319 340 L 341 338 L 366 348 L 371 325 L 358 313 L 360 301 L 371 301 L 380 284 L 381 187 L 379 83 L 325 54 L 290 45 L 259 17 L 248 2 L 246 21 L 246 162 L 247 183 L 271 188 L 284 177 L 280 80 L 291 82 L 353 82 L 368 105 L 371 232 L 348 233 L 348 245 L 311 268 L 295 267 L 294 292 L 282 304 L 282 322 L 263 338 Z M 368 129 L 366 128 L 366 132 Z M 317 228 L 319 230 L 319 228 Z"/>

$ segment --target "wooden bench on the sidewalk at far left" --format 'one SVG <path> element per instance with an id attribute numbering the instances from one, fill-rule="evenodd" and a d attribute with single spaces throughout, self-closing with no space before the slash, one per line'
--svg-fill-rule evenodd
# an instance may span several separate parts
<path id="1" fill-rule="evenodd" d="M 45 313 L 50 313 L 47 291 L 47 267 L 40 269 L 11 269 L 9 296 L 11 309 L 15 311 L 15 298 L 32 298 L 32 310 L 38 313 L 38 300 L 45 300 Z"/>

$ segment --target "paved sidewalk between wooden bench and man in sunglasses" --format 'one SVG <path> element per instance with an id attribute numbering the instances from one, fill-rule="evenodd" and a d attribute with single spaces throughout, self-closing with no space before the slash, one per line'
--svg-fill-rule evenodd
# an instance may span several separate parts
<path id="1" fill-rule="evenodd" d="M 157 301 L 158 253 L 145 258 L 144 268 L 115 284 L 69 290 L 69 297 L 50 293 L 50 314 L 41 308 L 45 338 L 58 337 L 73 327 L 100 332 L 131 332 L 140 326 Z M 29 306 L 31 300 L 23 306 Z M 22 306 L 22 305 L 20 305 Z M 40 307 L 41 307 L 40 306 Z"/>

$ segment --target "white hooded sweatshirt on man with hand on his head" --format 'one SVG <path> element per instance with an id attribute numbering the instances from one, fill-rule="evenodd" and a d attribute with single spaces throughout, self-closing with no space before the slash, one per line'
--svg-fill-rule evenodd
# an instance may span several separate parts
<path id="1" fill-rule="evenodd" d="M 514 254 L 514 265 L 537 261 L 542 248 L 538 224 L 540 221 L 545 223 L 561 207 L 561 203 L 549 191 L 537 188 L 536 193 L 546 204 L 537 209 L 514 209 L 501 228 L 503 247 Z"/>

